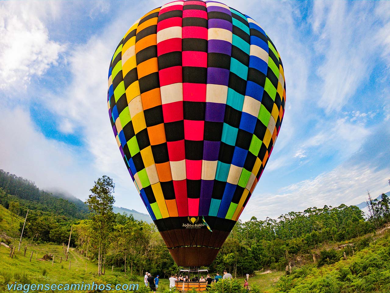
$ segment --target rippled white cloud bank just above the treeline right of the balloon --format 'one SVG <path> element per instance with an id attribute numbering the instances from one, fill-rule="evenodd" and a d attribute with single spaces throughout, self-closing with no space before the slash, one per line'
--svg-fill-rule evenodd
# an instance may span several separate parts
<path id="1" fill-rule="evenodd" d="M 303 211 L 308 207 L 359 204 L 365 200 L 367 189 L 375 197 L 386 192 L 389 173 L 390 168 L 376 170 L 367 164 L 344 165 L 313 179 L 291 184 L 279 190 L 276 195 L 259 195 L 255 191 L 241 218 L 277 218 L 280 214 L 292 210 Z"/>

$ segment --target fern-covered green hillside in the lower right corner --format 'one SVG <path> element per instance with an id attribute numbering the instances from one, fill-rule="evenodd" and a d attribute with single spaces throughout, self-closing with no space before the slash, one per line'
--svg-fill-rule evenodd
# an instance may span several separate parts
<path id="1" fill-rule="evenodd" d="M 372 239 L 370 235 L 361 238 L 357 244 L 365 243 L 365 247 L 360 251 L 357 251 L 357 247 L 356 251 L 350 249 L 346 253 L 346 259 L 342 252 L 332 249 L 328 250 L 325 258 L 324 250 L 322 259 L 331 264 L 320 266 L 318 263 L 296 268 L 291 275 L 280 277 L 273 285 L 274 288 L 265 290 L 264 293 L 390 292 L 390 231 L 381 229 L 376 235 L 376 239 Z"/>

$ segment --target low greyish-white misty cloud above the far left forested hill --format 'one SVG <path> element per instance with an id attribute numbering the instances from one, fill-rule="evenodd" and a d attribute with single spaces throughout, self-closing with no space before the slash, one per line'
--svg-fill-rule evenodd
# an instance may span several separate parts
<path id="1" fill-rule="evenodd" d="M 0 108 L 0 128 L 0 168 L 33 180 L 41 189 L 56 187 L 82 199 L 88 196 L 94 177 L 79 147 L 45 138 L 20 107 Z"/>

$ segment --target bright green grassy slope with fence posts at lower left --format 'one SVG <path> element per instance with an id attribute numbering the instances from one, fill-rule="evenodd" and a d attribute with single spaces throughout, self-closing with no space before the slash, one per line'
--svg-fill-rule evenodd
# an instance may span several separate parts
<path id="1" fill-rule="evenodd" d="M 14 245 L 18 241 L 14 241 Z M 23 249 L 27 245 L 26 256 L 23 256 Z M 30 262 L 30 255 L 33 252 L 33 257 Z M 39 261 L 44 254 L 50 253 L 54 255 L 54 263 L 51 266 L 51 261 Z M 60 257 L 62 256 L 62 263 Z M 37 257 L 37 260 L 35 259 Z M 71 269 L 69 270 L 69 262 L 71 262 Z M 91 261 L 78 254 L 74 248 L 69 248 L 68 261 L 64 258 L 64 248 L 62 245 L 51 244 L 28 244 L 26 241 L 22 242 L 22 249 L 20 252 L 15 251 L 13 258 L 9 257 L 9 249 L 5 247 L 0 248 L 0 292 L 6 292 L 6 284 L 17 281 L 17 284 L 64 284 L 64 283 L 108 283 L 108 284 L 129 284 L 142 283 L 142 277 L 138 277 L 135 281 L 129 281 L 129 276 L 124 277 L 124 272 L 115 269 L 111 272 L 111 268 L 106 268 L 104 276 L 97 276 L 97 263 Z M 85 271 L 85 264 L 87 264 L 87 271 Z M 46 274 L 43 275 L 44 270 Z M 168 280 L 160 281 L 162 288 L 167 287 Z M 63 292 L 63 291 L 50 291 Z M 86 292 L 86 291 L 73 291 Z M 123 292 L 123 291 L 121 291 Z"/>

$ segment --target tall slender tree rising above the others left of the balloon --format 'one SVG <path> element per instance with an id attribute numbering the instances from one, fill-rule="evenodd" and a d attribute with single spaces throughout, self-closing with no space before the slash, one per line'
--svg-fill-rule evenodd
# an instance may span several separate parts
<path id="1" fill-rule="evenodd" d="M 95 181 L 94 187 L 90 189 L 91 193 L 85 202 L 88 204 L 90 210 L 90 218 L 92 220 L 92 229 L 94 234 L 94 241 L 98 248 L 98 274 L 105 273 L 105 255 L 106 247 L 108 245 L 108 235 L 113 229 L 114 213 L 112 211 L 115 199 L 112 195 L 115 184 L 112 179 L 106 175 Z M 102 260 L 104 254 L 102 272 Z"/>

